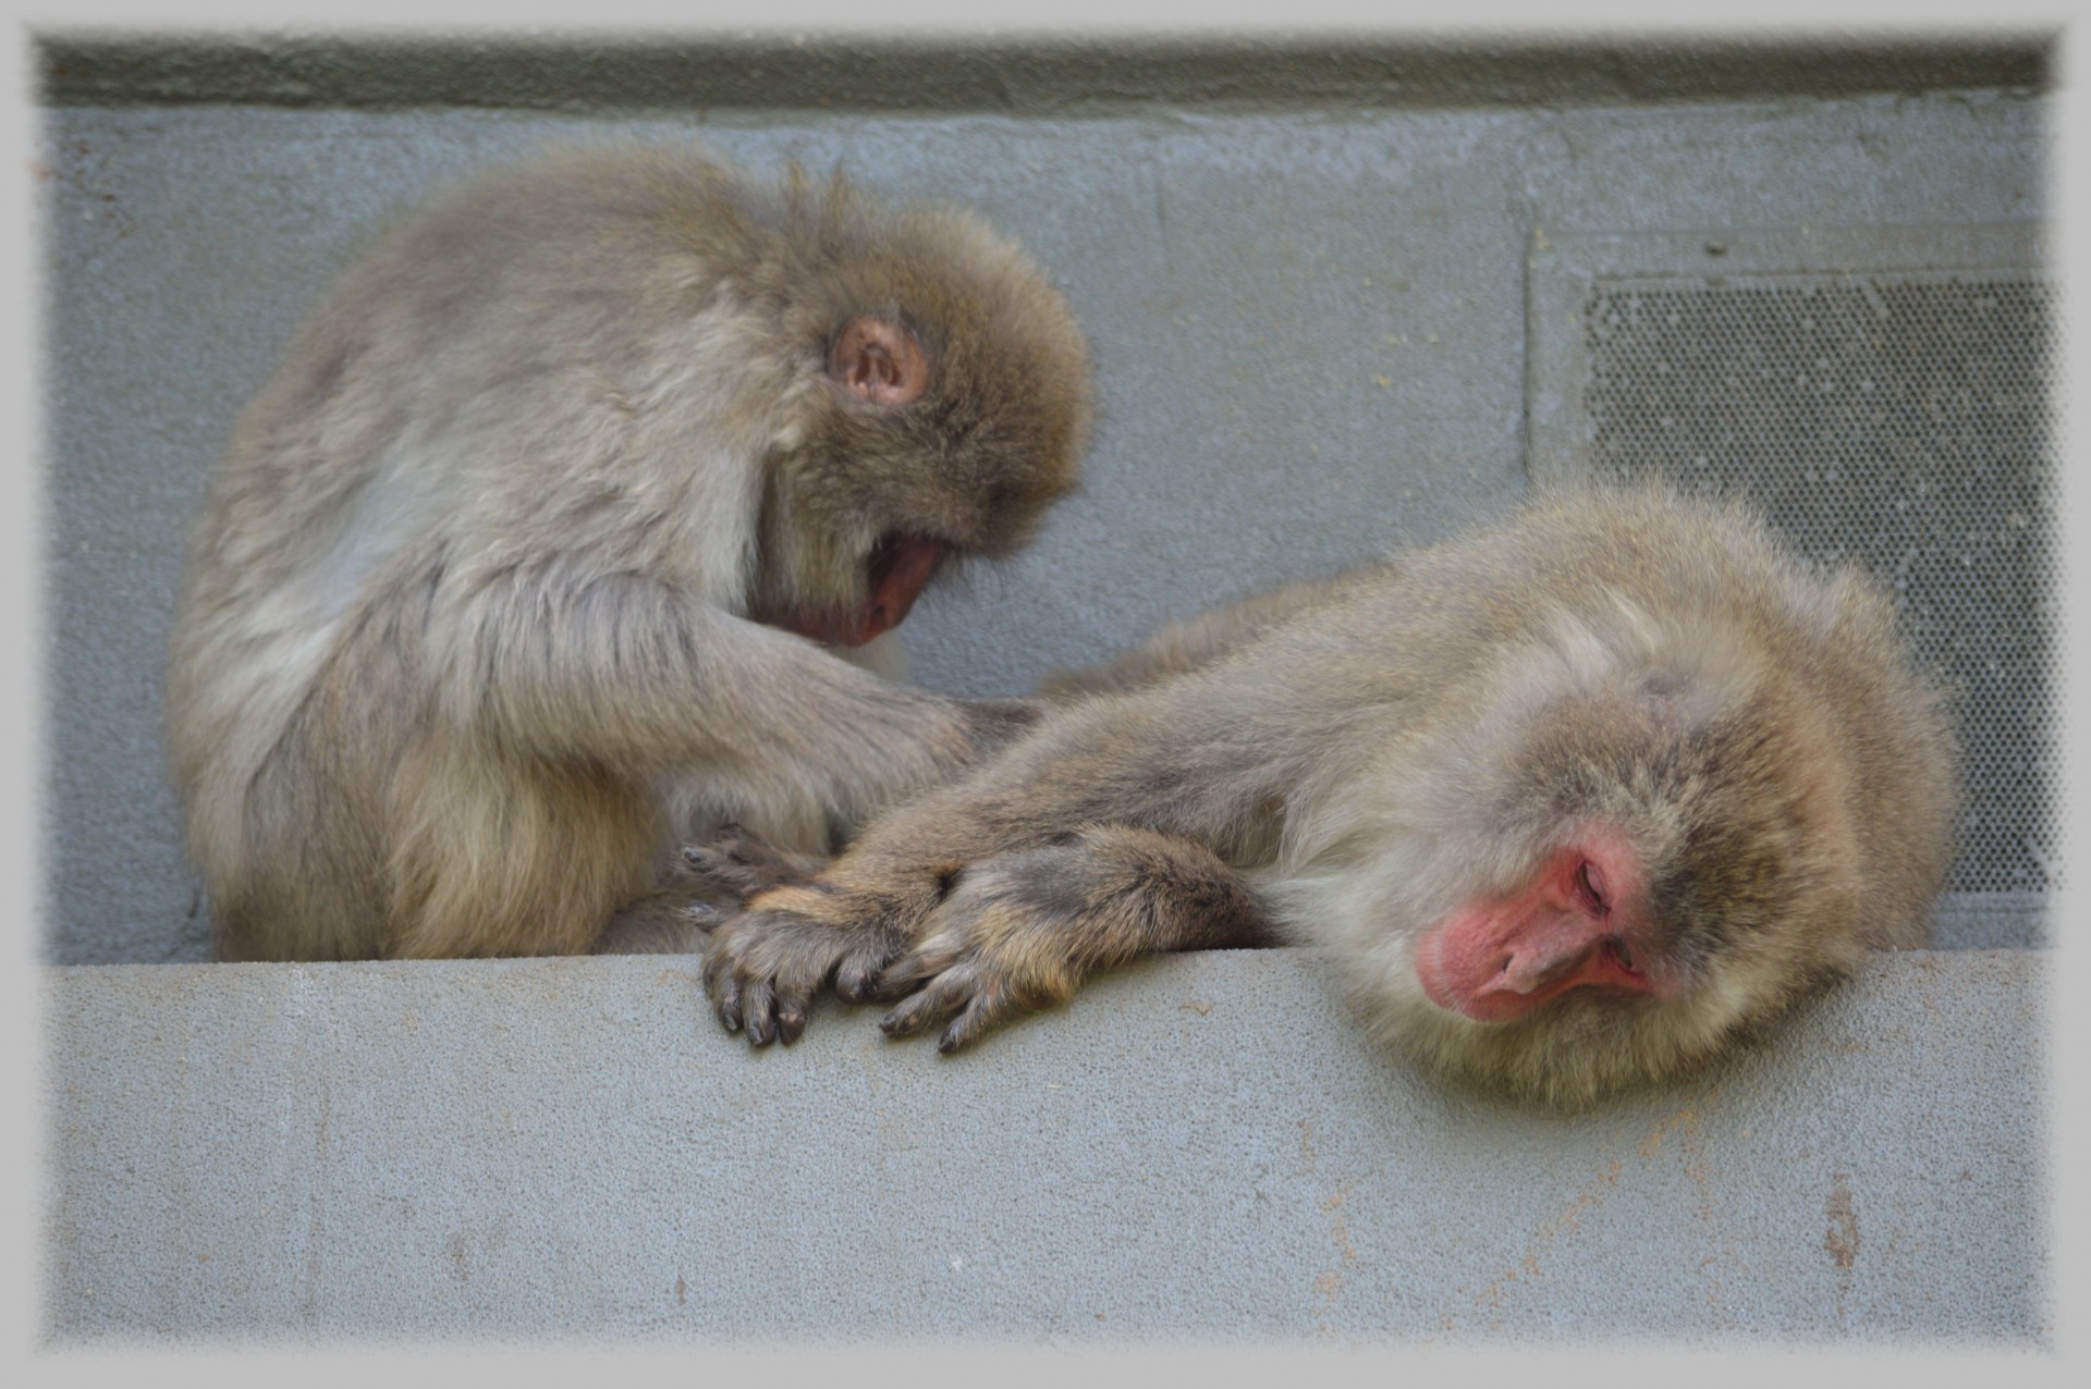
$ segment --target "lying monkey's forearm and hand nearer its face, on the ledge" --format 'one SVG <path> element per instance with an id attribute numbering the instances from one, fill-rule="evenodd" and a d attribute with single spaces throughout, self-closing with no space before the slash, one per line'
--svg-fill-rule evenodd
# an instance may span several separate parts
<path id="1" fill-rule="evenodd" d="M 1263 944 L 1271 932 L 1255 896 L 1213 850 L 1092 825 L 960 873 L 924 936 L 870 992 L 905 996 L 878 1023 L 887 1036 L 951 1017 L 937 1038 L 951 1053 L 1018 1013 L 1066 1003 L 1098 969 L 1158 950 Z"/>

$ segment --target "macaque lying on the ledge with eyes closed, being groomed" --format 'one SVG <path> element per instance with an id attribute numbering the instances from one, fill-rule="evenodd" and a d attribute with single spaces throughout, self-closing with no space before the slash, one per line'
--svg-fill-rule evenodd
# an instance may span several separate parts
<path id="1" fill-rule="evenodd" d="M 818 875 L 749 873 L 721 1021 L 795 1040 L 832 984 L 953 1051 L 1148 950 L 1305 940 L 1374 1036 L 1572 1107 L 1922 944 L 1953 848 L 1882 589 L 1660 489 L 1537 497 L 1066 687 Z"/>

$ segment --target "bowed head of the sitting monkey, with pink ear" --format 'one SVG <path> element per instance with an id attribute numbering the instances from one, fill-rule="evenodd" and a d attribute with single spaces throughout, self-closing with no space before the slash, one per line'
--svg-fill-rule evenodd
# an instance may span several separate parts
<path id="1" fill-rule="evenodd" d="M 757 614 L 855 645 L 945 560 L 1014 551 L 1075 487 L 1089 361 L 1060 295 L 968 213 L 884 213 L 830 186 L 807 238 Z"/>

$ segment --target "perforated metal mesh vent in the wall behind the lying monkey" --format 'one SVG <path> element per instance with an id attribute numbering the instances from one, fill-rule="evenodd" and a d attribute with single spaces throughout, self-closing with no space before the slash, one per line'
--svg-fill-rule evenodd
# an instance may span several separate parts
<path id="1" fill-rule="evenodd" d="M 2041 894 L 2049 731 L 2053 288 L 2032 272 L 1593 280 L 1587 468 L 1744 493 L 1807 554 L 1892 583 L 1955 687 L 1955 892 Z"/>

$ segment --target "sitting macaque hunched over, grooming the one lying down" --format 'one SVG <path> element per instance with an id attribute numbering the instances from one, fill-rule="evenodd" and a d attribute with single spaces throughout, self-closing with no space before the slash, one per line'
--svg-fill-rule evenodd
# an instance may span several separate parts
<path id="1" fill-rule="evenodd" d="M 841 652 L 1020 545 L 1087 420 L 1066 303 L 970 213 L 669 150 L 437 198 L 192 535 L 167 733 L 220 955 L 646 948 L 692 833 L 826 852 L 949 779 L 1035 706 Z"/>

